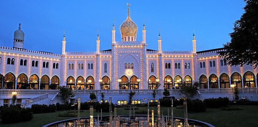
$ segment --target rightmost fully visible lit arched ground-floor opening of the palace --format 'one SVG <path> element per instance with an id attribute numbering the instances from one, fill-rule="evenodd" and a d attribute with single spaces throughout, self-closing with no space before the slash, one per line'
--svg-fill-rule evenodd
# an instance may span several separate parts
<path id="1" fill-rule="evenodd" d="M 246 72 L 244 74 L 244 87 L 245 88 L 254 88 L 255 87 L 254 73 Z"/>

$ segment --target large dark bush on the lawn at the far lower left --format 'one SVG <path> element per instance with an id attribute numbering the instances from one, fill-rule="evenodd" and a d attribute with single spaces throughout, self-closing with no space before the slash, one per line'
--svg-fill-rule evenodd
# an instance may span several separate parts
<path id="1" fill-rule="evenodd" d="M 2 107 L 0 118 L 2 123 L 19 123 L 33 119 L 31 108 L 21 108 L 20 105 L 10 105 L 10 107 Z"/>

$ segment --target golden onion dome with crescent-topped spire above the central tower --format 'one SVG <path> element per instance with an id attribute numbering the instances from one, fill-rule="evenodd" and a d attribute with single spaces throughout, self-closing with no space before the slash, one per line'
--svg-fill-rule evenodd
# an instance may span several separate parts
<path id="1" fill-rule="evenodd" d="M 121 32 L 121 37 L 122 38 L 125 37 L 125 36 L 134 36 L 136 38 L 137 26 L 130 18 L 129 5 L 128 5 L 127 19 L 120 26 L 120 32 Z"/>

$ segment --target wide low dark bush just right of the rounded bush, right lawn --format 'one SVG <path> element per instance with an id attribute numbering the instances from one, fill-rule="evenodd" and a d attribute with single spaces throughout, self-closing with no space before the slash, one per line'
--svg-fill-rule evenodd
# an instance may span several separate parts
<path id="1" fill-rule="evenodd" d="M 227 105 L 229 104 L 229 99 L 227 97 L 210 98 L 204 99 L 203 102 L 206 103 L 207 108 L 221 108 L 227 107 Z"/>

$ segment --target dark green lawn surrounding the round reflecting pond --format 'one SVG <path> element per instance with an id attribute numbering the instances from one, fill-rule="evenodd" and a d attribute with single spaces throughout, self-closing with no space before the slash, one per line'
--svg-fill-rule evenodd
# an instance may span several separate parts
<path id="1" fill-rule="evenodd" d="M 231 105 L 229 105 L 231 106 Z M 200 120 L 207 123 L 210 123 L 216 127 L 226 127 L 226 126 L 234 126 L 234 127 L 243 127 L 243 126 L 258 126 L 258 106 L 239 106 L 243 110 L 238 111 L 223 111 L 220 109 L 207 109 L 206 112 L 199 112 L 199 113 L 188 113 L 189 119 Z M 147 108 L 147 107 L 139 107 Z M 150 110 L 154 109 L 155 114 L 157 115 L 157 107 L 150 107 Z M 163 111 L 163 115 L 167 115 L 168 107 L 161 107 L 160 109 Z M 184 117 L 184 110 L 183 109 L 176 109 L 174 108 L 174 116 L 175 117 Z M 21 122 L 15 124 L 2 124 L 0 123 L 1 127 L 11 126 L 11 127 L 20 127 L 20 126 L 33 126 L 33 127 L 40 127 L 46 125 L 48 123 L 52 123 L 59 120 L 66 120 L 71 118 L 77 117 L 58 117 L 60 112 L 65 111 L 57 111 L 53 113 L 44 113 L 44 114 L 34 114 L 34 118 L 28 122 Z M 94 116 L 97 116 L 98 112 L 94 110 Z M 124 110 L 124 108 L 117 108 L 117 115 L 129 115 L 129 110 Z M 171 114 L 171 111 L 170 111 Z M 100 115 L 100 113 L 99 113 Z M 103 115 L 109 115 L 109 112 L 104 112 Z M 141 114 L 143 115 L 143 114 Z M 84 110 L 81 112 L 81 117 L 88 117 L 89 110 Z"/>

